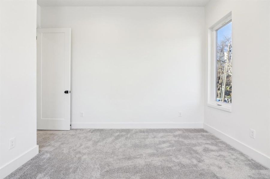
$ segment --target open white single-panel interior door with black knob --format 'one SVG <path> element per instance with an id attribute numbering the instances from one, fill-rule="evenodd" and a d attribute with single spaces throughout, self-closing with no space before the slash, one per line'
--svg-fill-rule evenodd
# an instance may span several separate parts
<path id="1" fill-rule="evenodd" d="M 37 29 L 37 129 L 70 130 L 70 28 Z"/>

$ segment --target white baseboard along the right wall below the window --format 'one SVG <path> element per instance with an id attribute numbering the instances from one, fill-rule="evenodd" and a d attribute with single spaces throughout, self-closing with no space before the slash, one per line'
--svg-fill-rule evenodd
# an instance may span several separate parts
<path id="1" fill-rule="evenodd" d="M 228 136 L 227 134 L 215 129 L 208 124 L 203 124 L 203 129 L 207 130 L 208 132 L 215 135 L 217 138 L 220 138 L 222 141 L 230 144 L 237 150 L 243 152 L 244 154 L 248 155 L 249 157 L 253 158 L 255 161 L 261 163 L 262 165 L 270 168 L 270 158 L 261 152 L 247 146 L 246 144 Z"/>

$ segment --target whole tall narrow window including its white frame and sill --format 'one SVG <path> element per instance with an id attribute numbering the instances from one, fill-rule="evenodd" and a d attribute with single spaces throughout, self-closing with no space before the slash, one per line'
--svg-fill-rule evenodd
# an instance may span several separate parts
<path id="1" fill-rule="evenodd" d="M 207 105 L 232 111 L 232 13 L 208 29 Z"/>

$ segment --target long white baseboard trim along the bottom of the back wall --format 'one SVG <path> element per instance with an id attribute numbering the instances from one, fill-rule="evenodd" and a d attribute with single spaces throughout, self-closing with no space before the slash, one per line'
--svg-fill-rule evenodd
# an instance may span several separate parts
<path id="1" fill-rule="evenodd" d="M 202 129 L 203 123 L 72 123 L 72 129 Z"/>

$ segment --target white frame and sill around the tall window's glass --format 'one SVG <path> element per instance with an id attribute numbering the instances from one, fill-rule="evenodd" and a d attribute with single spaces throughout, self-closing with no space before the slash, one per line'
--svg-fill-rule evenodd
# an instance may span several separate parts
<path id="1" fill-rule="evenodd" d="M 232 104 L 216 101 L 216 43 L 217 30 L 232 21 L 231 12 L 212 25 L 208 30 L 208 93 L 207 106 L 232 111 Z"/>

